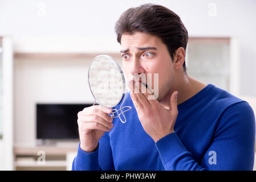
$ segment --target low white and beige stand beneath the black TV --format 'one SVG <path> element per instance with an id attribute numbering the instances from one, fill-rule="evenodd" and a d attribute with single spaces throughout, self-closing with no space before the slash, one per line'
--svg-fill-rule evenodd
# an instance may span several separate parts
<path id="1" fill-rule="evenodd" d="M 15 170 L 71 170 L 79 143 L 14 147 Z M 44 157 L 44 161 L 43 161 Z"/>

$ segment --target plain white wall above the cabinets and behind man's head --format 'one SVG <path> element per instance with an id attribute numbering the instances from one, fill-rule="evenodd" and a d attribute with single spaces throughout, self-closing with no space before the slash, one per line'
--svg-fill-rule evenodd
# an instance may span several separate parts
<path id="1" fill-rule="evenodd" d="M 240 93 L 256 96 L 256 84 L 251 79 L 256 77 L 254 0 L 1 0 L 0 35 L 14 37 L 15 51 L 115 52 L 119 51 L 113 30 L 116 20 L 129 7 L 147 2 L 164 5 L 180 15 L 190 36 L 237 37 L 241 43 Z M 209 16 L 210 3 L 216 4 L 216 17 Z M 79 45 L 72 42 L 79 37 L 83 37 Z"/>

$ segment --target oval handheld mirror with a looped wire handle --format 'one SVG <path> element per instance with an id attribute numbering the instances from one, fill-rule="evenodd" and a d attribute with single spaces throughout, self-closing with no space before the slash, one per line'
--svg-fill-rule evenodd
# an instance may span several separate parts
<path id="1" fill-rule="evenodd" d="M 127 84 L 119 64 L 111 56 L 96 56 L 88 70 L 88 84 L 97 104 L 115 107 L 121 103 L 118 110 L 113 109 L 111 117 L 118 117 L 122 123 L 125 123 L 124 113 L 132 107 L 123 106 L 127 95 Z"/>

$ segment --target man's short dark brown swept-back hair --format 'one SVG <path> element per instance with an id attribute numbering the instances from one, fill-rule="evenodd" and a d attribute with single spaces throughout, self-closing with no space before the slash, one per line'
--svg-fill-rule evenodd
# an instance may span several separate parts
<path id="1" fill-rule="evenodd" d="M 119 43 L 124 33 L 144 32 L 158 36 L 167 46 L 172 60 L 176 49 L 183 47 L 186 51 L 188 43 L 188 31 L 180 17 L 164 6 L 151 3 L 132 7 L 121 14 L 115 25 L 115 32 Z M 186 72 L 185 61 L 183 68 Z"/>

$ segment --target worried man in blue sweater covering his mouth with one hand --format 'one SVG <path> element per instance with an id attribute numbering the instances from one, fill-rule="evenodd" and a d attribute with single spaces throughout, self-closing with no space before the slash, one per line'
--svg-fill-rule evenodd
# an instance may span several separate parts
<path id="1" fill-rule="evenodd" d="M 80 145 L 72 169 L 253 169 L 253 110 L 186 73 L 188 32 L 178 15 L 162 6 L 141 5 L 125 11 L 115 30 L 125 73 L 157 73 L 159 92 L 149 99 L 155 90 L 137 93 L 135 88 L 141 91 L 147 83 L 129 81 L 124 105 L 132 110 L 125 113 L 125 124 L 109 117 L 109 108 L 80 111 Z"/>

